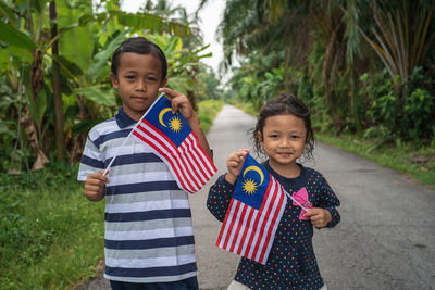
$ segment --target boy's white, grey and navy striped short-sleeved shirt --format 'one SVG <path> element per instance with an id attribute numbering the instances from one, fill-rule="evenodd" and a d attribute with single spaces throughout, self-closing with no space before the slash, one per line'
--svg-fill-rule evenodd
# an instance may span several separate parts
<path id="1" fill-rule="evenodd" d="M 135 122 L 120 109 L 88 135 L 78 173 L 104 169 Z M 104 277 L 128 282 L 165 282 L 197 275 L 187 193 L 167 166 L 137 138 L 114 160 L 105 188 Z"/>

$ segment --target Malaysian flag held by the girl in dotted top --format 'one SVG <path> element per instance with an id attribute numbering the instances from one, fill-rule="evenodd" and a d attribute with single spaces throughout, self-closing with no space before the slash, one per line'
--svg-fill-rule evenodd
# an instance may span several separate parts
<path id="1" fill-rule="evenodd" d="M 248 154 L 216 245 L 264 265 L 286 202 L 282 185 Z"/>

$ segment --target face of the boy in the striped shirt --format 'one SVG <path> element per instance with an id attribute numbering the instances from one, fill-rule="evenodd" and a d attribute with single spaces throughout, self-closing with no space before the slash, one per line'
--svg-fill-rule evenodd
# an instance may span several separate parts
<path id="1" fill-rule="evenodd" d="M 124 112 L 139 121 L 166 85 L 162 79 L 162 63 L 153 54 L 124 52 L 120 58 L 117 76 L 110 74 L 112 85 L 119 89 Z"/>

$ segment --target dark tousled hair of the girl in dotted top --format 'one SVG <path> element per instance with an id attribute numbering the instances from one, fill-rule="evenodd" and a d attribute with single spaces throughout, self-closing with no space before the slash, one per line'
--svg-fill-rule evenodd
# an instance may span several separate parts
<path id="1" fill-rule="evenodd" d="M 303 124 L 306 125 L 307 129 L 307 147 L 303 150 L 303 156 L 306 160 L 311 160 L 313 157 L 314 150 L 314 131 L 311 127 L 310 118 L 311 111 L 299 98 L 285 92 L 281 92 L 261 108 L 256 127 L 252 130 L 253 149 L 256 150 L 257 154 L 261 153 L 265 155 L 265 152 L 260 144 L 261 140 L 259 140 L 258 133 L 263 136 L 264 123 L 268 117 L 286 114 L 291 114 L 303 119 Z"/>

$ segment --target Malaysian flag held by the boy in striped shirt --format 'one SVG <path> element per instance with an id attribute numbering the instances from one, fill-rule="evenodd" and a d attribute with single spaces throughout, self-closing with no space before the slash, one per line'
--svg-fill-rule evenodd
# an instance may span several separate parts
<path id="1" fill-rule="evenodd" d="M 217 171 L 187 122 L 179 113 L 172 113 L 171 101 L 163 94 L 148 109 L 133 135 L 152 148 L 178 187 L 189 193 L 199 191 Z"/>

